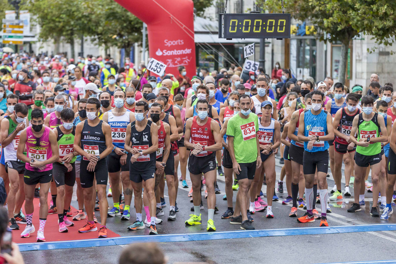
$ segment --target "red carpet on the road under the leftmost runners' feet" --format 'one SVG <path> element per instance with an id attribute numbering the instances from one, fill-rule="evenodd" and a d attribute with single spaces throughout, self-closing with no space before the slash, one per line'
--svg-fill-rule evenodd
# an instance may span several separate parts
<path id="1" fill-rule="evenodd" d="M 48 196 L 48 204 L 51 200 L 51 196 Z M 34 198 L 34 213 L 33 213 L 33 225 L 36 230 L 34 233 L 30 234 L 30 237 L 21 238 L 21 233 L 25 229 L 25 224 L 18 224 L 19 230 L 12 230 L 12 241 L 15 243 L 35 243 L 37 237 L 37 231 L 40 227 L 39 225 L 39 217 L 38 212 L 40 207 L 38 206 L 40 199 Z M 25 213 L 25 205 L 22 206 L 22 211 Z M 76 208 L 70 207 L 70 211 L 74 214 L 77 211 Z M 70 221 L 72 221 L 72 217 L 68 217 Z M 80 221 L 72 221 L 74 226 L 69 226 L 69 232 L 67 233 L 59 233 L 59 224 L 58 224 L 58 214 L 48 215 L 46 226 L 44 228 L 44 236 L 46 241 L 68 241 L 68 240 L 82 240 L 82 239 L 92 239 L 98 238 L 98 231 L 88 232 L 88 233 L 78 233 L 78 230 L 82 228 L 86 224 L 86 219 L 82 219 Z M 99 230 L 100 223 L 96 224 L 96 227 Z M 107 229 L 107 237 L 119 237 L 120 235 L 112 232 Z"/>

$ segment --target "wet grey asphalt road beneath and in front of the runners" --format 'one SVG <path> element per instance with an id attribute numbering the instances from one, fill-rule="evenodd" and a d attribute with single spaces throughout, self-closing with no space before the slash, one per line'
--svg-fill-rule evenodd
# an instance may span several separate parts
<path id="1" fill-rule="evenodd" d="M 279 159 L 276 159 L 276 175 L 280 177 L 281 165 Z M 180 170 L 179 170 L 180 175 Z M 344 179 L 343 179 L 344 180 Z M 329 191 L 334 185 L 330 176 L 327 178 Z M 191 186 L 187 171 L 187 183 Z M 223 200 L 224 177 L 218 177 L 221 194 L 216 194 L 216 205 L 219 212 L 215 213 L 214 223 L 217 232 L 221 231 L 238 231 L 239 225 L 232 225 L 229 219 L 221 219 L 221 215 L 227 209 L 227 201 Z M 343 188 L 344 190 L 344 183 Z M 167 187 L 165 187 L 167 188 Z M 164 220 L 162 224 L 157 225 L 158 234 L 188 234 L 188 233 L 206 233 L 206 221 L 208 212 L 206 199 L 203 196 L 204 210 L 202 213 L 202 224 L 196 226 L 185 226 L 184 222 L 192 213 L 190 207 L 190 198 L 187 197 L 190 188 L 181 188 L 179 182 L 179 191 L 177 196 L 177 205 L 179 212 L 176 215 L 176 221 L 168 221 L 169 199 L 165 196 L 167 206 L 163 208 L 165 215 L 158 217 Z M 266 197 L 266 186 L 263 185 L 263 193 Z M 346 209 L 353 203 L 353 188 L 351 186 L 352 196 L 343 201 L 330 203 L 331 213 L 327 214 L 329 226 L 346 226 L 357 224 L 396 224 L 396 217 L 392 216 L 388 221 L 381 221 L 379 217 L 374 218 L 369 215 L 372 206 L 372 194 L 366 192 L 366 207 L 356 213 L 347 213 Z M 235 202 L 237 191 L 234 191 L 233 201 Z M 167 190 L 165 191 L 167 194 Z M 266 218 L 265 212 L 257 212 L 252 215 L 253 226 L 256 229 L 282 229 L 282 228 L 305 228 L 318 227 L 319 222 L 301 224 L 296 218 L 288 217 L 291 209 L 290 205 L 282 205 L 282 200 L 286 198 L 286 185 L 284 184 L 284 193 L 277 192 L 279 201 L 272 204 L 274 218 Z M 272 197 L 272 194 L 271 194 Z M 108 198 L 109 205 L 112 205 L 112 198 Z M 266 199 L 265 199 L 266 201 Z M 73 206 L 77 206 L 76 201 L 72 201 Z M 320 204 L 316 204 L 320 212 Z M 299 208 L 298 216 L 305 213 L 303 208 Z M 95 213 L 98 220 L 99 212 Z M 143 217 L 145 213 L 143 210 Z M 108 217 L 107 228 L 120 234 L 120 236 L 141 236 L 147 235 L 148 229 L 129 231 L 128 225 L 135 221 L 135 210 L 131 209 L 131 219 L 121 221 L 120 217 Z M 75 228 L 76 229 L 76 228 Z M 77 232 L 73 227 L 69 232 Z M 304 236 L 274 236 L 274 237 L 250 237 L 234 239 L 218 239 L 203 241 L 186 241 L 186 242 L 167 242 L 159 244 L 169 258 L 169 263 L 175 262 L 207 262 L 207 263 L 235 263 L 249 261 L 252 263 L 329 263 L 329 262 L 352 262 L 352 261 L 376 261 L 395 259 L 395 255 L 389 255 L 390 250 L 396 245 L 395 231 L 379 232 L 356 232 L 343 234 L 317 234 Z M 23 252 L 26 263 L 55 263 L 59 261 L 59 256 L 67 256 L 72 259 L 72 263 L 87 263 L 87 258 L 100 259 L 97 263 L 118 263 L 118 256 L 122 249 L 128 245 L 106 246 L 106 247 L 88 247 L 75 249 L 53 249 L 43 251 L 26 251 Z M 286 254 L 285 254 L 286 253 Z M 69 261 L 68 261 L 69 262 Z"/>

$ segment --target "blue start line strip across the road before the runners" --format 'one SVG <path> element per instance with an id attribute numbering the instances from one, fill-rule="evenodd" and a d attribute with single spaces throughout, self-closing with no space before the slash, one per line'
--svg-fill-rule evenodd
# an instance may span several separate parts
<path id="1" fill-rule="evenodd" d="M 181 242 L 201 241 L 230 238 L 270 237 L 270 236 L 299 236 L 317 234 L 336 234 L 351 232 L 372 232 L 396 230 L 396 224 L 364 224 L 350 226 L 283 228 L 264 230 L 236 230 L 225 232 L 193 233 L 193 234 L 164 234 L 156 236 L 126 236 L 113 238 L 97 238 L 72 241 L 55 241 L 42 243 L 19 244 L 20 251 L 71 249 L 80 247 L 102 247 L 111 245 L 127 245 L 142 242 Z M 360 262 L 356 262 L 360 263 Z M 368 262 L 367 262 L 368 263 Z"/>

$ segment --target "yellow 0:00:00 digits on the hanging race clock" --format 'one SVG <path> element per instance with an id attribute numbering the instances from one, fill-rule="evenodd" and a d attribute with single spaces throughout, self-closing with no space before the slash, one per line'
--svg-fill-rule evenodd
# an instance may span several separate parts
<path id="1" fill-rule="evenodd" d="M 240 29 L 242 29 L 242 32 L 250 32 L 250 30 L 253 28 L 254 33 L 259 33 L 259 32 L 261 32 L 261 25 L 265 25 L 265 23 L 262 23 L 262 22 L 263 22 L 263 20 L 261 20 L 261 19 L 255 19 L 253 26 L 252 26 L 251 19 L 244 19 L 243 25 L 242 25 L 242 27 L 240 27 Z M 239 24 L 241 24 L 241 23 L 239 23 Z M 274 32 L 275 28 L 276 28 L 275 32 L 280 32 L 280 33 L 285 32 L 286 19 L 279 19 L 277 27 L 275 24 L 276 24 L 275 19 L 268 19 L 267 20 L 267 28 L 264 26 L 263 29 L 265 29 L 265 31 L 268 33 Z M 231 19 L 230 20 L 230 28 L 229 28 L 228 32 L 230 32 L 230 33 L 236 32 L 237 29 L 238 29 L 238 19 Z"/>

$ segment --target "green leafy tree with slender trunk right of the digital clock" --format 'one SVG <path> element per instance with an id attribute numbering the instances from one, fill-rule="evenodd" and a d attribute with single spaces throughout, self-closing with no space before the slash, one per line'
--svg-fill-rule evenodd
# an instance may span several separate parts
<path id="1" fill-rule="evenodd" d="M 281 13 L 281 1 L 256 0 L 265 12 Z M 396 34 L 396 1 L 284 0 L 285 13 L 310 21 L 320 40 L 341 42 L 339 82 L 345 82 L 348 47 L 352 38 L 370 35 L 378 44 L 392 45 Z M 370 50 L 367 50 L 371 52 Z"/>

